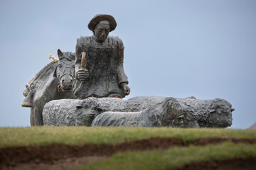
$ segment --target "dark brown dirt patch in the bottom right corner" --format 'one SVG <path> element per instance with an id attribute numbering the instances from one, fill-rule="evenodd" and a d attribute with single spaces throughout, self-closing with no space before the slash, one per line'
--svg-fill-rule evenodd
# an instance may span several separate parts
<path id="1" fill-rule="evenodd" d="M 256 159 L 255 158 L 235 158 L 224 161 L 213 161 L 208 162 L 192 162 L 186 166 L 176 168 L 173 170 L 255 170 Z"/>

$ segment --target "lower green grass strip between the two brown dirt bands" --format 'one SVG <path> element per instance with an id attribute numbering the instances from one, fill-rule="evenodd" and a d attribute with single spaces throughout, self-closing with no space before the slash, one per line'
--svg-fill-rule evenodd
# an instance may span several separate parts
<path id="1" fill-rule="evenodd" d="M 79 170 L 153 170 L 172 169 L 191 162 L 224 160 L 235 157 L 256 158 L 256 145 L 235 145 L 224 142 L 221 145 L 206 147 L 174 147 L 167 150 L 150 150 L 146 152 L 125 152 L 114 154 L 110 159 L 95 162 Z"/>

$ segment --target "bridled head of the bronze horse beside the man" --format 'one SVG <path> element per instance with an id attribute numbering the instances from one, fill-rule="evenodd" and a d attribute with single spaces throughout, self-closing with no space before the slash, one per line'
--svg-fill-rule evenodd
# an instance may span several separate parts
<path id="1" fill-rule="evenodd" d="M 53 77 L 58 79 L 61 91 L 72 91 L 75 77 L 75 55 L 72 52 L 61 52 L 58 49 L 58 58 L 58 66 L 55 68 Z"/>

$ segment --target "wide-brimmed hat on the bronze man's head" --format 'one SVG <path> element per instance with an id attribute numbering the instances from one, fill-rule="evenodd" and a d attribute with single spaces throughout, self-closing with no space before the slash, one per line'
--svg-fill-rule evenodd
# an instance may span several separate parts
<path id="1" fill-rule="evenodd" d="M 117 22 L 114 20 L 114 17 L 107 14 L 97 14 L 92 18 L 88 24 L 89 30 L 94 30 L 97 26 L 97 23 L 100 21 L 109 21 L 110 22 L 110 31 L 114 30 L 117 27 Z"/>

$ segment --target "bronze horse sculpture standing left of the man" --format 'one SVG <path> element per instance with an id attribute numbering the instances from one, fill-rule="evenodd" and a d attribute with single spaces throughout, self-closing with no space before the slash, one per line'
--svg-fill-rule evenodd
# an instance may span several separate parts
<path id="1" fill-rule="evenodd" d="M 26 98 L 21 106 L 31 108 L 31 126 L 43 125 L 43 106 L 48 101 L 75 98 L 73 95 L 75 55 L 58 49 L 59 60 L 53 56 L 50 58 L 54 61 L 38 72 L 23 91 Z"/>

